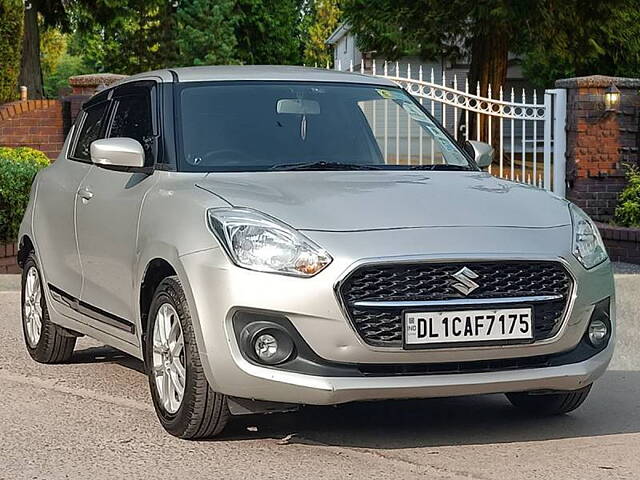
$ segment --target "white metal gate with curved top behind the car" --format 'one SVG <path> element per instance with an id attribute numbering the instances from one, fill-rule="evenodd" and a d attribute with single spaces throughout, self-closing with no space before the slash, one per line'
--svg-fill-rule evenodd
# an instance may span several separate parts
<path id="1" fill-rule="evenodd" d="M 341 70 L 341 65 L 337 65 L 337 69 Z M 353 71 L 353 64 L 349 70 Z M 480 120 L 484 116 L 484 123 L 488 126 L 485 141 L 497 147 L 497 160 L 490 167 L 490 173 L 565 195 L 566 90 L 545 90 L 540 102 L 535 90 L 527 94 L 524 89 L 521 93 L 511 89 L 505 95 L 502 87 L 496 92 L 489 85 L 487 97 L 482 97 L 470 91 L 466 79 L 464 85 L 458 85 L 458 78 L 454 75 L 447 83 L 444 71 L 439 83 L 433 70 L 426 78 L 422 67 L 412 71 L 410 64 L 401 66 L 398 62 L 376 65 L 373 61 L 371 71 L 365 71 L 364 65 L 360 71 L 399 84 L 417 98 L 456 140 L 480 140 Z M 475 92 L 479 91 L 478 85 Z M 470 120 L 475 120 L 475 131 L 459 128 L 469 125 Z M 493 141 L 492 127 L 496 122 L 500 134 L 499 139 Z M 387 124 L 387 118 L 384 118 L 384 123 Z M 382 135 L 387 135 L 386 130 Z M 410 149 L 412 139 L 409 134 L 406 141 Z M 387 144 L 386 139 L 384 143 Z"/>

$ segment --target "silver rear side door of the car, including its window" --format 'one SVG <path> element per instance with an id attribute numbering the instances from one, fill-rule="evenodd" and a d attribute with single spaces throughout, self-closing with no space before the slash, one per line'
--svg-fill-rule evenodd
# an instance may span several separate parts
<path id="1" fill-rule="evenodd" d="M 107 93 L 86 103 L 78 116 L 66 152 L 44 173 L 38 185 L 34 230 L 38 253 L 56 308 L 67 316 L 79 315 L 68 307 L 80 298 L 82 271 L 75 237 L 75 202 L 78 187 L 94 168 L 89 146 L 104 137 L 109 102 Z"/>

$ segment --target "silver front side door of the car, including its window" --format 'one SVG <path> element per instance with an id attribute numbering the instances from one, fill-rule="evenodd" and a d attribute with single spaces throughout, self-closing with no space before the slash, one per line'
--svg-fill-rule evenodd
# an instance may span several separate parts
<path id="1" fill-rule="evenodd" d="M 115 90 L 107 137 L 128 137 L 140 142 L 145 166 L 153 166 L 159 137 L 155 82 L 126 84 Z M 140 208 L 156 178 L 115 167 L 95 166 L 78 198 L 77 238 L 84 283 L 80 297 L 83 313 L 94 326 L 136 344 L 135 316 Z"/>

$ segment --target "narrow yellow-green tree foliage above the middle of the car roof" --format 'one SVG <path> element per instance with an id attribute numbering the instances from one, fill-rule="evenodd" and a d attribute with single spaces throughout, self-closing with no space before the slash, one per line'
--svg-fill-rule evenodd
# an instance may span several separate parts
<path id="1" fill-rule="evenodd" d="M 325 43 L 338 26 L 341 11 L 338 0 L 315 0 L 306 31 L 304 63 L 327 65 L 331 62 L 331 50 Z"/>

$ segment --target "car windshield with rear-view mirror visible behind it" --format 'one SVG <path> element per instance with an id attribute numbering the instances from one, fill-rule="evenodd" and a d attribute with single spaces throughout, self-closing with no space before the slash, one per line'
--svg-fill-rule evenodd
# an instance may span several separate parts
<path id="1" fill-rule="evenodd" d="M 178 87 L 180 170 L 472 170 L 400 88 L 310 82 Z"/>

